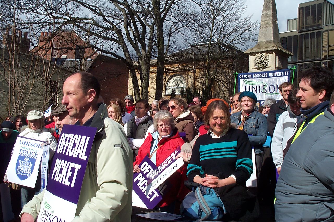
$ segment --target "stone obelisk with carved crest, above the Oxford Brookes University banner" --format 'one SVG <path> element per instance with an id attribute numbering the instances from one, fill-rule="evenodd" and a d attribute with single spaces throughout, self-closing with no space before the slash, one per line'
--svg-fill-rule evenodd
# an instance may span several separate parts
<path id="1" fill-rule="evenodd" d="M 264 0 L 258 43 L 245 54 L 249 56 L 248 72 L 287 68 L 292 53 L 283 49 L 280 43 L 275 0 Z"/>

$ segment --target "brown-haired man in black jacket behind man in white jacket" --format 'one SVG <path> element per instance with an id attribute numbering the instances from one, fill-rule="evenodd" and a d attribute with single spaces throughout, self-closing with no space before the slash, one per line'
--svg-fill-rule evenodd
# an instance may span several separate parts
<path id="1" fill-rule="evenodd" d="M 274 129 L 278 118 L 280 115 L 287 110 L 288 102 L 288 95 L 290 91 L 295 88 L 295 86 L 291 82 L 284 82 L 280 84 L 280 94 L 283 97 L 277 103 L 274 103 L 270 106 L 269 113 L 268 113 L 268 132 L 269 135 L 272 137 L 274 134 Z"/>

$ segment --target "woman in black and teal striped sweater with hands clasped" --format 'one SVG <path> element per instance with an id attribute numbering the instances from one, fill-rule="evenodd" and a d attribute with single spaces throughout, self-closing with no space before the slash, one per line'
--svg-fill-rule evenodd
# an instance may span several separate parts
<path id="1" fill-rule="evenodd" d="M 259 208 L 246 188 L 253 172 L 251 144 L 244 131 L 230 127 L 229 116 L 221 100 L 207 106 L 204 125 L 209 130 L 196 140 L 187 176 L 190 182 L 214 189 L 226 210 L 223 221 L 254 221 Z"/>

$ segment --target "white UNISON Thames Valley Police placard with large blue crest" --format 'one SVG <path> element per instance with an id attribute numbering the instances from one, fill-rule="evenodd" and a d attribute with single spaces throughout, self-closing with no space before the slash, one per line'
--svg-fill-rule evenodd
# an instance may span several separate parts
<path id="1" fill-rule="evenodd" d="M 34 188 L 45 141 L 18 136 L 7 167 L 7 179 Z"/>

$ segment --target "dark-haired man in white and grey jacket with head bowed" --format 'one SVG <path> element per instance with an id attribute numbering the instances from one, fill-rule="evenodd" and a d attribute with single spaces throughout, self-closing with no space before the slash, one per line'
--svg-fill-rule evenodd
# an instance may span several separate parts
<path id="1" fill-rule="evenodd" d="M 276 124 L 273 140 L 271 144 L 271 152 L 273 155 L 273 161 L 277 168 L 277 172 L 280 173 L 283 162 L 284 150 L 287 146 L 289 138 L 295 133 L 297 123 L 301 124 L 301 112 L 300 112 L 300 98 L 297 97 L 298 89 L 291 90 L 288 96 L 289 105 L 287 111 L 283 112 L 278 118 Z"/>

